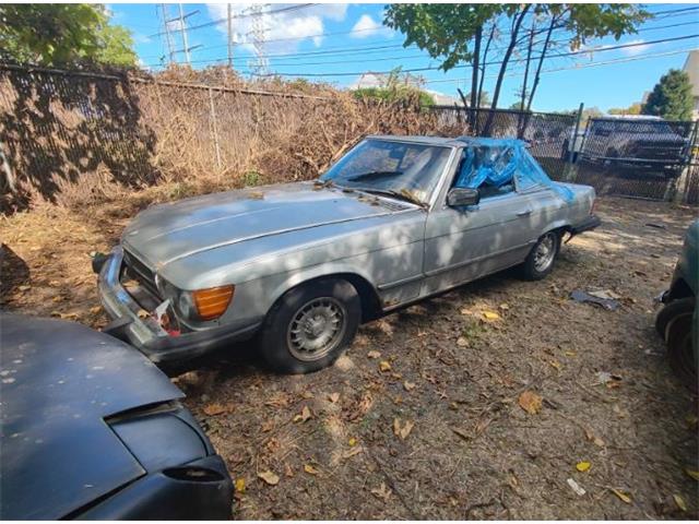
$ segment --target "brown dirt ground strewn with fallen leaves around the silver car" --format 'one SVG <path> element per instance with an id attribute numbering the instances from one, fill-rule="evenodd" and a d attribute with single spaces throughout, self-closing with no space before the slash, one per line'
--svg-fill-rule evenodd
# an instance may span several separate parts
<path id="1" fill-rule="evenodd" d="M 1 307 L 104 325 L 90 253 L 142 205 L 2 219 Z M 547 279 L 506 272 L 366 324 L 331 369 L 275 376 L 241 345 L 175 378 L 236 481 L 234 517 L 697 519 L 697 400 L 653 327 L 697 210 L 597 212 Z"/>

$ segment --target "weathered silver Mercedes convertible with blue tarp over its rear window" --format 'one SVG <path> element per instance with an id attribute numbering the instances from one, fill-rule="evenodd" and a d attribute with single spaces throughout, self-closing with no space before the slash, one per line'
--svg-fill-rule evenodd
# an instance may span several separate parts
<path id="1" fill-rule="evenodd" d="M 360 322 L 516 265 L 545 277 L 594 198 L 517 140 L 368 136 L 318 180 L 140 213 L 93 264 L 105 331 L 164 364 L 254 337 L 273 369 L 315 371 Z"/>

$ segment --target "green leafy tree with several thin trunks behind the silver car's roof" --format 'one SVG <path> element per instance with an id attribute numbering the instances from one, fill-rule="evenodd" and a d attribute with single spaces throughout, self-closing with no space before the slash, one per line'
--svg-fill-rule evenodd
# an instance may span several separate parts
<path id="1" fill-rule="evenodd" d="M 602 3 L 509 3 L 509 4 L 416 4 L 393 3 L 387 7 L 384 24 L 405 34 L 404 46 L 417 45 L 430 57 L 441 59 L 440 69 L 449 71 L 460 64 L 471 66 L 471 106 L 476 106 L 483 79 L 489 63 L 491 43 L 505 40 L 499 71 L 493 91 L 493 109 L 498 107 L 500 88 L 510 59 L 516 50 L 526 56 L 526 74 L 522 93 L 528 94 L 525 109 L 531 110 L 538 85 L 542 66 L 556 40 L 554 29 L 567 34 L 567 45 L 578 49 L 591 38 L 635 33 L 637 26 L 651 14 L 635 4 Z M 542 38 L 535 38 L 544 35 Z M 533 55 L 533 50 L 537 56 Z M 530 66 L 534 74 L 530 81 Z M 484 134 L 493 123 L 490 114 Z"/>

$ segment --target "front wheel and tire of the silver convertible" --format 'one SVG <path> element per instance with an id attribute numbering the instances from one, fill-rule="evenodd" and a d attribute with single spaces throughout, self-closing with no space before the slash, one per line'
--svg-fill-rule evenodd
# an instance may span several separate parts
<path id="1" fill-rule="evenodd" d="M 276 372 L 318 371 L 352 344 L 360 319 L 362 301 L 352 284 L 339 278 L 313 281 L 287 291 L 270 310 L 260 349 Z"/>

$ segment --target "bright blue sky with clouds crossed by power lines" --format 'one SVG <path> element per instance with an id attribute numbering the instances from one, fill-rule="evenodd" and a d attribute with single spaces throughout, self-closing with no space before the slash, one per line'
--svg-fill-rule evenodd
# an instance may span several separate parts
<path id="1" fill-rule="evenodd" d="M 191 13 L 185 19 L 191 66 L 200 69 L 226 63 L 227 4 L 170 3 L 165 7 L 165 16 L 177 19 L 180 5 L 182 14 Z M 260 8 L 270 14 L 250 16 L 254 10 L 252 4 L 232 4 L 234 68 L 245 75 L 253 71 L 252 33 L 257 28 L 258 34 L 264 35 L 262 52 L 271 73 L 352 87 L 364 72 L 386 72 L 399 67 L 403 71 L 430 68 L 412 73 L 423 76 L 426 90 L 450 96 L 458 96 L 457 87 L 469 92 L 470 69 L 443 72 L 437 69 L 440 61 L 426 51 L 415 46 L 404 48 L 404 35 L 382 25 L 384 5 L 273 3 Z M 141 66 L 162 70 L 169 55 L 163 4 L 119 3 L 108 8 L 112 23 L 131 29 Z M 577 109 L 580 103 L 605 111 L 628 107 L 640 102 L 667 70 L 682 69 L 687 51 L 699 48 L 699 4 L 652 4 L 647 9 L 661 14 L 641 25 L 639 33 L 623 36 L 618 41 L 613 37 L 590 40 L 585 46 L 589 52 L 547 59 L 534 109 Z M 168 23 L 174 59 L 185 63 L 180 27 L 178 20 Z M 559 33 L 556 38 L 561 47 L 552 52 L 569 51 L 566 35 Z M 631 46 L 605 50 L 605 47 L 626 44 Z M 496 49 L 503 45 L 503 41 L 495 44 Z M 511 75 L 506 78 L 499 107 L 509 107 L 517 100 L 523 79 L 523 58 L 513 57 L 522 62 L 514 63 Z M 486 72 L 485 88 L 489 93 L 493 93 L 497 69 L 493 67 Z"/>

